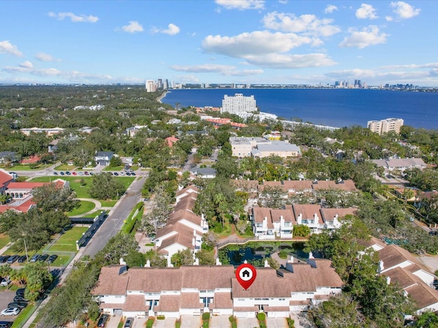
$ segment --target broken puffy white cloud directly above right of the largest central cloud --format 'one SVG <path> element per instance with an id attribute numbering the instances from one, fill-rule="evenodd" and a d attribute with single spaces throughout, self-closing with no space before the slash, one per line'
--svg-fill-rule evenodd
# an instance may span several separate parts
<path id="1" fill-rule="evenodd" d="M 271 12 L 266 14 L 262 21 L 264 27 L 268 29 L 303 33 L 311 36 L 333 36 L 333 34 L 341 31 L 339 27 L 331 25 L 333 19 L 320 19 L 313 14 L 295 16 L 294 14 Z"/>

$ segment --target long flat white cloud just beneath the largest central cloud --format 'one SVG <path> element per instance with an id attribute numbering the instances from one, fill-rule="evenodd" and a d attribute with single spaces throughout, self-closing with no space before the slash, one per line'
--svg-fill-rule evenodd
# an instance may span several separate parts
<path id="1" fill-rule="evenodd" d="M 274 53 L 263 56 L 248 56 L 246 60 L 253 65 L 277 69 L 320 67 L 337 64 L 324 53 L 308 53 L 306 55 Z"/>

